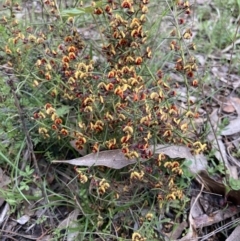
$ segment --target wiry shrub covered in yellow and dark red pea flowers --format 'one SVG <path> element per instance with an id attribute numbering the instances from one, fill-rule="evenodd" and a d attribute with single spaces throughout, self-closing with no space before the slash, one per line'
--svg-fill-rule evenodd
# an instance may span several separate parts
<path id="1" fill-rule="evenodd" d="M 12 16 L 2 18 L 5 26 L 11 26 L 4 46 L 6 65 L 26 82 L 26 92 L 44 102 L 37 102 L 39 108 L 32 113 L 42 141 L 63 139 L 74 141 L 84 153 L 121 149 L 128 159 L 154 159 L 154 167 L 132 171 L 130 181 L 148 181 L 160 189 L 167 186 L 167 191 L 159 192 L 160 203 L 182 199 L 183 191 L 176 186 L 176 179 L 183 174 L 180 161 L 168 160 L 163 154 L 156 157 L 149 147 L 181 144 L 199 154 L 206 145 L 193 124 L 199 116 L 194 103 L 187 99 L 187 107 L 181 108 L 178 83 L 163 70 L 149 70 L 152 50 L 146 23 L 150 1 L 109 0 L 88 7 L 101 36 L 96 48 L 79 33 L 78 16 L 61 22 L 55 1 L 43 2 L 50 18 L 59 23 L 50 21 L 39 29 L 26 27 L 23 32 Z M 170 33 L 168 51 L 174 54 L 172 71 L 182 77 L 189 90 L 199 84 L 191 54 L 195 49 L 192 31 L 184 25 L 191 8 L 188 1 L 175 2 L 179 18 Z M 6 1 L 5 7 L 10 6 L 20 7 Z M 75 170 L 81 183 L 88 182 L 86 173 Z M 162 172 L 167 173 L 165 183 L 145 175 L 157 173 L 159 177 Z M 111 190 L 109 183 L 105 179 L 97 182 L 98 195 Z M 134 233 L 132 240 L 145 239 Z"/>

